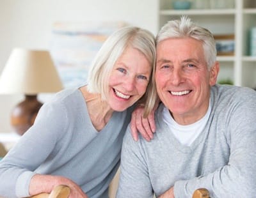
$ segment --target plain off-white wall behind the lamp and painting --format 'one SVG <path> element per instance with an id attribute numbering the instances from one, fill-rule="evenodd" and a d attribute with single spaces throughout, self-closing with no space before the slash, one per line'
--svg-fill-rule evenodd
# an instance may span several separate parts
<path id="1" fill-rule="evenodd" d="M 157 0 L 1 0 L 0 72 L 14 47 L 49 49 L 57 21 L 115 21 L 157 33 Z M 22 95 L 0 95 L 0 132 L 10 132 L 10 111 Z M 45 98 L 44 96 L 40 96 Z M 51 97 L 46 97 L 51 98 Z"/>

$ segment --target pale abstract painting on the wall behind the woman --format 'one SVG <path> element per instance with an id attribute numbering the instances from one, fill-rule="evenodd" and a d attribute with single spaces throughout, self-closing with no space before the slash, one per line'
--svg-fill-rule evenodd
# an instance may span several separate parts
<path id="1" fill-rule="evenodd" d="M 50 52 L 65 88 L 86 84 L 88 68 L 108 36 L 124 22 L 56 22 Z"/>

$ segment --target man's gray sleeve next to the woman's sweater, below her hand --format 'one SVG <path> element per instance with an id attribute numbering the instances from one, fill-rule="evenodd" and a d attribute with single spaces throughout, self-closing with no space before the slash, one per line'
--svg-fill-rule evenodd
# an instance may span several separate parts
<path id="1" fill-rule="evenodd" d="M 122 146 L 120 179 L 116 197 L 153 197 L 145 156 L 140 150 L 140 140 L 132 139 L 127 127 Z"/>

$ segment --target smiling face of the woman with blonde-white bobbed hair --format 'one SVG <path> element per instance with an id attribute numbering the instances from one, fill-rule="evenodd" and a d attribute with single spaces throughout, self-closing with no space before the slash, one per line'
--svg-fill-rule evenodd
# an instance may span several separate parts
<path id="1" fill-rule="evenodd" d="M 117 59 L 109 77 L 107 101 L 116 111 L 131 107 L 144 95 L 152 66 L 137 49 L 127 47 Z"/>

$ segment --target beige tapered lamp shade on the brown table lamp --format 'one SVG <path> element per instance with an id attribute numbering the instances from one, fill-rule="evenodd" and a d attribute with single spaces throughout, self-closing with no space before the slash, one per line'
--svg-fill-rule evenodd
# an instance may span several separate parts
<path id="1" fill-rule="evenodd" d="M 0 77 L 0 94 L 52 93 L 63 89 L 46 50 L 13 49 Z"/>

